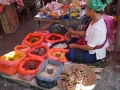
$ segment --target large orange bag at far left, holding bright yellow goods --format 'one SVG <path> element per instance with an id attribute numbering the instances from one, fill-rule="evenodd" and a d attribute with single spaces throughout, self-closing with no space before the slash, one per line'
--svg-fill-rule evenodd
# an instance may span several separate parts
<path id="1" fill-rule="evenodd" d="M 14 61 L 6 60 L 8 56 L 13 55 L 13 53 L 15 53 L 15 51 L 9 52 L 8 54 L 5 54 L 0 57 L 0 71 L 2 71 L 5 74 L 10 74 L 10 75 L 16 74 L 18 71 L 19 64 L 26 57 L 25 53 L 20 52 L 20 53 L 23 53 L 24 55 L 19 57 L 17 60 L 14 60 Z"/>

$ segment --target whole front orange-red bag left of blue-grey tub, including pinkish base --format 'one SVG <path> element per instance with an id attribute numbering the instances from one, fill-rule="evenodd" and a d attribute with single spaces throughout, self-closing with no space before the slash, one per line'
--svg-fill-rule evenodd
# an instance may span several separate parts
<path id="1" fill-rule="evenodd" d="M 25 58 L 18 67 L 18 77 L 28 81 L 34 79 L 43 61 L 44 58 L 41 57 Z"/>

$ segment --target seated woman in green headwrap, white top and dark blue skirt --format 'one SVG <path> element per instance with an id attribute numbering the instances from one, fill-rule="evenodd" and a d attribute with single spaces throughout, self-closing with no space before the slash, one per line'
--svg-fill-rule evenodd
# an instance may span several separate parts
<path id="1" fill-rule="evenodd" d="M 104 10 L 111 0 L 87 0 L 86 15 L 91 18 L 84 31 L 69 30 L 69 33 L 82 36 L 72 38 L 66 53 L 66 58 L 72 62 L 94 63 L 106 57 L 107 28 L 100 12 Z"/>

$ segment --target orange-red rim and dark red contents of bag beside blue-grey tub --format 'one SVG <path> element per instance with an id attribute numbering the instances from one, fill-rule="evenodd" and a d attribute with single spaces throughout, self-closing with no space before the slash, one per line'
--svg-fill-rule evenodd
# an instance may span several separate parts
<path id="1" fill-rule="evenodd" d="M 44 61 L 44 59 L 40 58 L 40 57 L 25 58 L 20 63 L 20 66 L 18 68 L 18 72 L 21 73 L 22 75 L 37 73 L 37 71 L 41 67 L 43 61 Z"/>

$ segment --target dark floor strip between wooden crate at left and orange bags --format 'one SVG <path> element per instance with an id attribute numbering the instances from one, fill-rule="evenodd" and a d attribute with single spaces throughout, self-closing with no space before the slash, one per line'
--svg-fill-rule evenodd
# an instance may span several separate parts
<path id="1" fill-rule="evenodd" d="M 25 36 L 36 30 L 36 25 L 34 20 L 29 20 L 27 22 L 22 22 L 15 33 L 13 34 L 4 34 L 0 30 L 0 56 L 10 52 L 13 48 L 21 44 Z"/>

